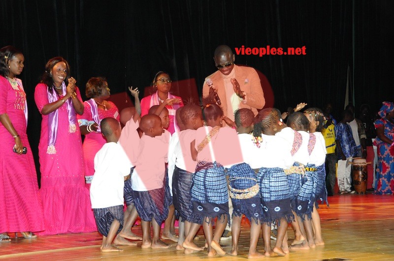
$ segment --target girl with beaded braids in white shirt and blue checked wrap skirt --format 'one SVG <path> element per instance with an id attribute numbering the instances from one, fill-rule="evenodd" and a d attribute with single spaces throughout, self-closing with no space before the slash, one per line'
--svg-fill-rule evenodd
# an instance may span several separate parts
<path id="1" fill-rule="evenodd" d="M 260 185 L 261 204 L 263 207 L 262 230 L 265 256 L 272 252 L 285 256 L 288 252 L 287 242 L 282 248 L 287 231 L 287 223 L 293 221 L 290 207 L 289 183 L 285 169 L 293 166 L 290 153 L 291 145 L 281 137 L 275 136 L 285 127 L 278 109 L 266 108 L 255 118 L 253 136 L 260 146 L 261 168 L 257 174 Z M 271 250 L 271 224 L 278 226 L 275 247 Z"/>

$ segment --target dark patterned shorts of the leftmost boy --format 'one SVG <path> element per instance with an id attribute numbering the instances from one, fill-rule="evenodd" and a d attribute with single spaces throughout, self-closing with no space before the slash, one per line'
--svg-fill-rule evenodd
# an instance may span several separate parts
<path id="1" fill-rule="evenodd" d="M 124 220 L 123 205 L 93 208 L 93 213 L 95 215 L 97 229 L 103 236 L 108 236 L 109 228 L 115 219 L 120 223 L 116 234 L 122 230 Z"/>

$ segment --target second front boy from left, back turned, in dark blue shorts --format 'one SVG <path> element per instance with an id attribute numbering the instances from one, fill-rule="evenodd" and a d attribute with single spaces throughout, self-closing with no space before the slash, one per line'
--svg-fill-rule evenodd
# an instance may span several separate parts
<path id="1" fill-rule="evenodd" d="M 140 128 L 143 135 L 139 142 L 139 154 L 136 167 L 131 176 L 131 188 L 134 191 L 134 204 L 142 225 L 142 248 L 169 248 L 171 245 L 160 240 L 160 225 L 168 215 L 164 202 L 165 158 L 168 142 L 155 138 L 164 132 L 162 122 L 157 115 L 145 115 L 141 118 Z M 150 227 L 153 227 L 153 238 Z"/>

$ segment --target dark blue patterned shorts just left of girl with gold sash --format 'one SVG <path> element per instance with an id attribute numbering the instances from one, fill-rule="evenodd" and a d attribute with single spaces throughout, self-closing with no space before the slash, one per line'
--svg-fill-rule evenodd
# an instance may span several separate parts
<path id="1" fill-rule="evenodd" d="M 172 176 L 172 195 L 175 209 L 179 211 L 182 220 L 191 221 L 193 173 L 175 166 Z"/>

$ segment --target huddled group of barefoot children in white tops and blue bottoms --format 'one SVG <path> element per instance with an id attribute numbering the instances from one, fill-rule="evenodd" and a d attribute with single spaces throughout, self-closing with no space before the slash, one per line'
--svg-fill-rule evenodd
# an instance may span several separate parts
<path id="1" fill-rule="evenodd" d="M 202 109 L 186 104 L 176 111 L 180 131 L 172 137 L 163 128 L 168 121 L 165 106 L 154 106 L 153 114 L 142 117 L 135 111 L 123 130 L 114 118 L 100 124 L 107 143 L 96 154 L 90 193 L 103 235 L 102 252 L 122 251 L 113 243 L 136 245 L 128 239 L 142 240 L 142 248 L 169 248 L 162 238 L 177 241 L 176 250 L 185 254 L 206 249 L 208 257 L 224 256 L 219 242 L 230 223 L 229 200 L 232 256 L 238 254 L 243 215 L 250 221 L 248 258 L 285 256 L 289 248 L 324 244 L 317 211 L 318 202 L 327 202 L 320 109 L 295 112 L 286 125 L 275 108 L 256 116 L 239 109 L 230 122 L 217 104 Z M 174 208 L 179 238 L 173 228 L 160 237 L 161 225 L 171 224 Z M 138 215 L 142 238 L 131 232 Z M 277 238 L 272 248 L 274 223 Z M 290 247 L 288 223 L 295 232 Z M 201 225 L 205 246 L 194 242 Z M 256 249 L 260 231 L 264 253 Z"/>

